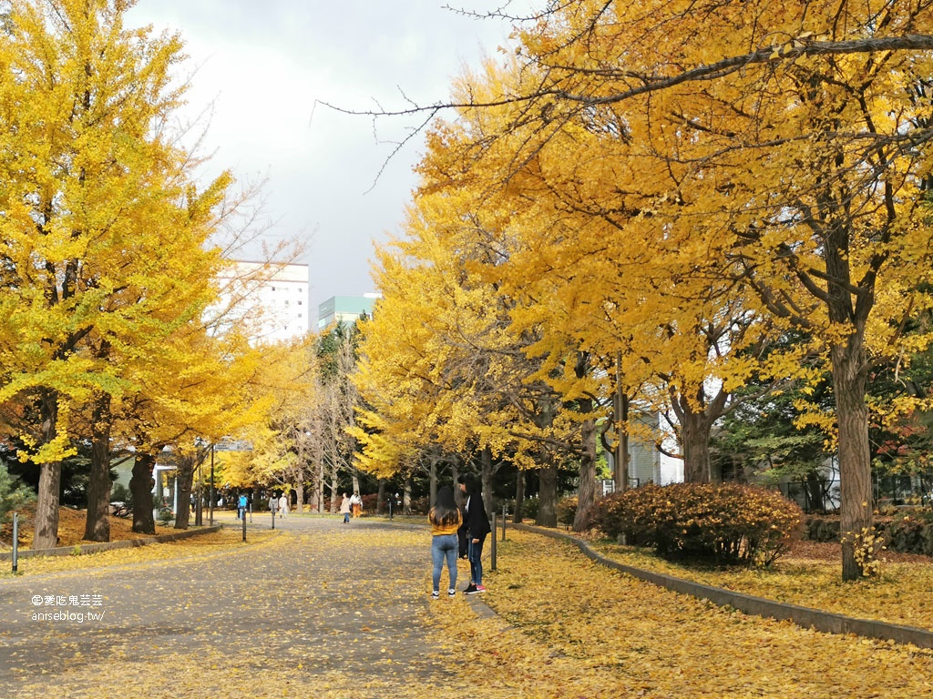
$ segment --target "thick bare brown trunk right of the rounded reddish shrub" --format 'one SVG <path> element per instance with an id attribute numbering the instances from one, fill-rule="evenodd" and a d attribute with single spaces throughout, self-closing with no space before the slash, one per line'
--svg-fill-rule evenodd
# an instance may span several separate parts
<path id="1" fill-rule="evenodd" d="M 856 561 L 856 536 L 871 531 L 871 461 L 868 405 L 862 342 L 851 336 L 847 345 L 831 349 L 836 419 L 839 422 L 840 532 L 842 580 L 857 580 L 862 567 Z"/>

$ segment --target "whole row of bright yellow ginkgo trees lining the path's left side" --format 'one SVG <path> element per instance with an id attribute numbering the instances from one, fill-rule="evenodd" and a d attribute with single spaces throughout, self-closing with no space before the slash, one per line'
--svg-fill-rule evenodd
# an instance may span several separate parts
<path id="1" fill-rule="evenodd" d="M 128 26 L 132 5 L 0 3 L 0 452 L 38 472 L 34 548 L 56 544 L 63 463 L 87 474 L 85 539 L 107 541 L 116 458 L 141 532 L 157 459 L 176 468 L 178 528 L 226 439 L 252 450 L 218 457 L 218 487 L 303 487 L 296 463 L 322 459 L 320 491 L 346 461 L 318 359 L 346 343 L 258 335 L 250 292 L 279 263 L 230 262 L 262 232 L 257 188 L 204 176 L 182 40 Z"/>

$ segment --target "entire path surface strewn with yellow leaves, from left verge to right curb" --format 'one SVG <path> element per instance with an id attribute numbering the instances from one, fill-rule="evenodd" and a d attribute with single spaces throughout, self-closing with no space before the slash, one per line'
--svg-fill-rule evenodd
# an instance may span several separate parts
<path id="1" fill-rule="evenodd" d="M 420 522 L 306 517 L 236 536 L 0 580 L 0 695 L 933 696 L 929 651 L 720 610 L 536 534 L 509 532 L 498 570 L 487 561 L 490 619 L 465 596 L 428 598 Z M 83 591 L 104 597 L 100 624 L 29 618 L 32 596 Z"/>

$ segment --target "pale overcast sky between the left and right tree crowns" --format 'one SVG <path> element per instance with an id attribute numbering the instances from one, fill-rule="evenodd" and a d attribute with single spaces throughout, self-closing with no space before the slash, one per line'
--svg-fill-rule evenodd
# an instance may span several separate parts
<path id="1" fill-rule="evenodd" d="M 504 1 L 464 7 L 485 13 Z M 509 30 L 443 0 L 139 0 L 128 23 L 182 34 L 183 75 L 197 69 L 189 110 L 214 103 L 211 167 L 268 178 L 272 235 L 308 240 L 312 322 L 327 297 L 373 290 L 372 242 L 397 232 L 423 143 L 393 158 L 373 187 L 394 147 L 377 137 L 398 138 L 402 125 L 374 134 L 367 117 L 314 109 L 314 101 L 397 108 L 399 90 L 420 103 L 443 100 L 462 66 L 494 54 Z"/>

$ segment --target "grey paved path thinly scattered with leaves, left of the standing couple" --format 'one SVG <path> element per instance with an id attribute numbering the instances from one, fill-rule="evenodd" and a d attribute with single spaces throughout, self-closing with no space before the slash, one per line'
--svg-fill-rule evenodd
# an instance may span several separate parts
<path id="1" fill-rule="evenodd" d="M 227 553 L 0 582 L 0 696 L 417 696 L 451 684 L 452 663 L 432 655 L 425 528 L 294 515 L 276 527 Z"/>

